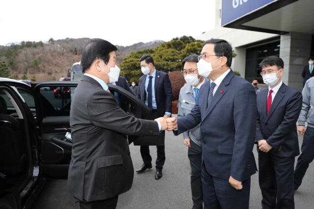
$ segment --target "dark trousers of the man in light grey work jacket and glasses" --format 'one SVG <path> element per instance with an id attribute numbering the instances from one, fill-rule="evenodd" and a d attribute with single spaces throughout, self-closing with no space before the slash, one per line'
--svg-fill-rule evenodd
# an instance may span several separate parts
<path id="1" fill-rule="evenodd" d="M 203 209 L 203 189 L 201 179 L 202 147 L 190 140 L 191 147 L 188 148 L 187 157 L 191 165 L 191 191 L 193 208 Z"/>

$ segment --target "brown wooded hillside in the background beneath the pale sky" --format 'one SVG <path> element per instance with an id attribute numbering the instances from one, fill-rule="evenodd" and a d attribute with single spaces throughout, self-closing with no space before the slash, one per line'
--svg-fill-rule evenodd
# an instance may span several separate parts
<path id="1" fill-rule="evenodd" d="M 66 77 L 68 69 L 79 62 L 89 38 L 61 39 L 48 43 L 23 41 L 11 46 L 0 46 L 0 77 L 32 81 L 59 80 Z M 117 65 L 131 51 L 157 47 L 163 41 L 137 43 L 131 46 L 117 46 Z M 4 61 L 4 62 L 1 62 Z"/>

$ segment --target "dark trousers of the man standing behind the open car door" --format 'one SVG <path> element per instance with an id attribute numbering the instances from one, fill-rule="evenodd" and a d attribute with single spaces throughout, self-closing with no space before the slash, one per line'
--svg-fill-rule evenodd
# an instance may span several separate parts
<path id="1" fill-rule="evenodd" d="M 157 112 L 152 112 L 152 120 L 155 120 L 158 118 Z M 163 139 L 165 136 L 163 135 Z M 143 162 L 145 164 L 152 163 L 152 157 L 149 152 L 149 146 L 141 146 L 140 147 L 141 156 L 143 159 Z M 156 159 L 156 168 L 162 169 L 162 166 L 164 165 L 166 160 L 165 156 L 165 146 L 157 146 L 157 159 Z"/>

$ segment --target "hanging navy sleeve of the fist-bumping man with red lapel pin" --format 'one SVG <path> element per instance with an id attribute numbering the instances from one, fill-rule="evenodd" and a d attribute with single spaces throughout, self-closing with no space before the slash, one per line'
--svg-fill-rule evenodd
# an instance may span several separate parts
<path id="1" fill-rule="evenodd" d="M 231 176 L 243 181 L 252 161 L 256 134 L 256 93 L 250 83 L 243 84 L 234 101 L 235 144 L 231 161 Z"/>

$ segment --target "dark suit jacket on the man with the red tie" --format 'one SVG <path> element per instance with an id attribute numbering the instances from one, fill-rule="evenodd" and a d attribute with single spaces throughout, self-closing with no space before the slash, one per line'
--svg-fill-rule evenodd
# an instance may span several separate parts
<path id="1" fill-rule="evenodd" d="M 296 121 L 302 109 L 300 91 L 282 84 L 267 116 L 268 88 L 257 94 L 256 143 L 267 139 L 275 156 L 293 158 L 300 154 Z M 258 151 L 259 146 L 257 146 Z"/>

